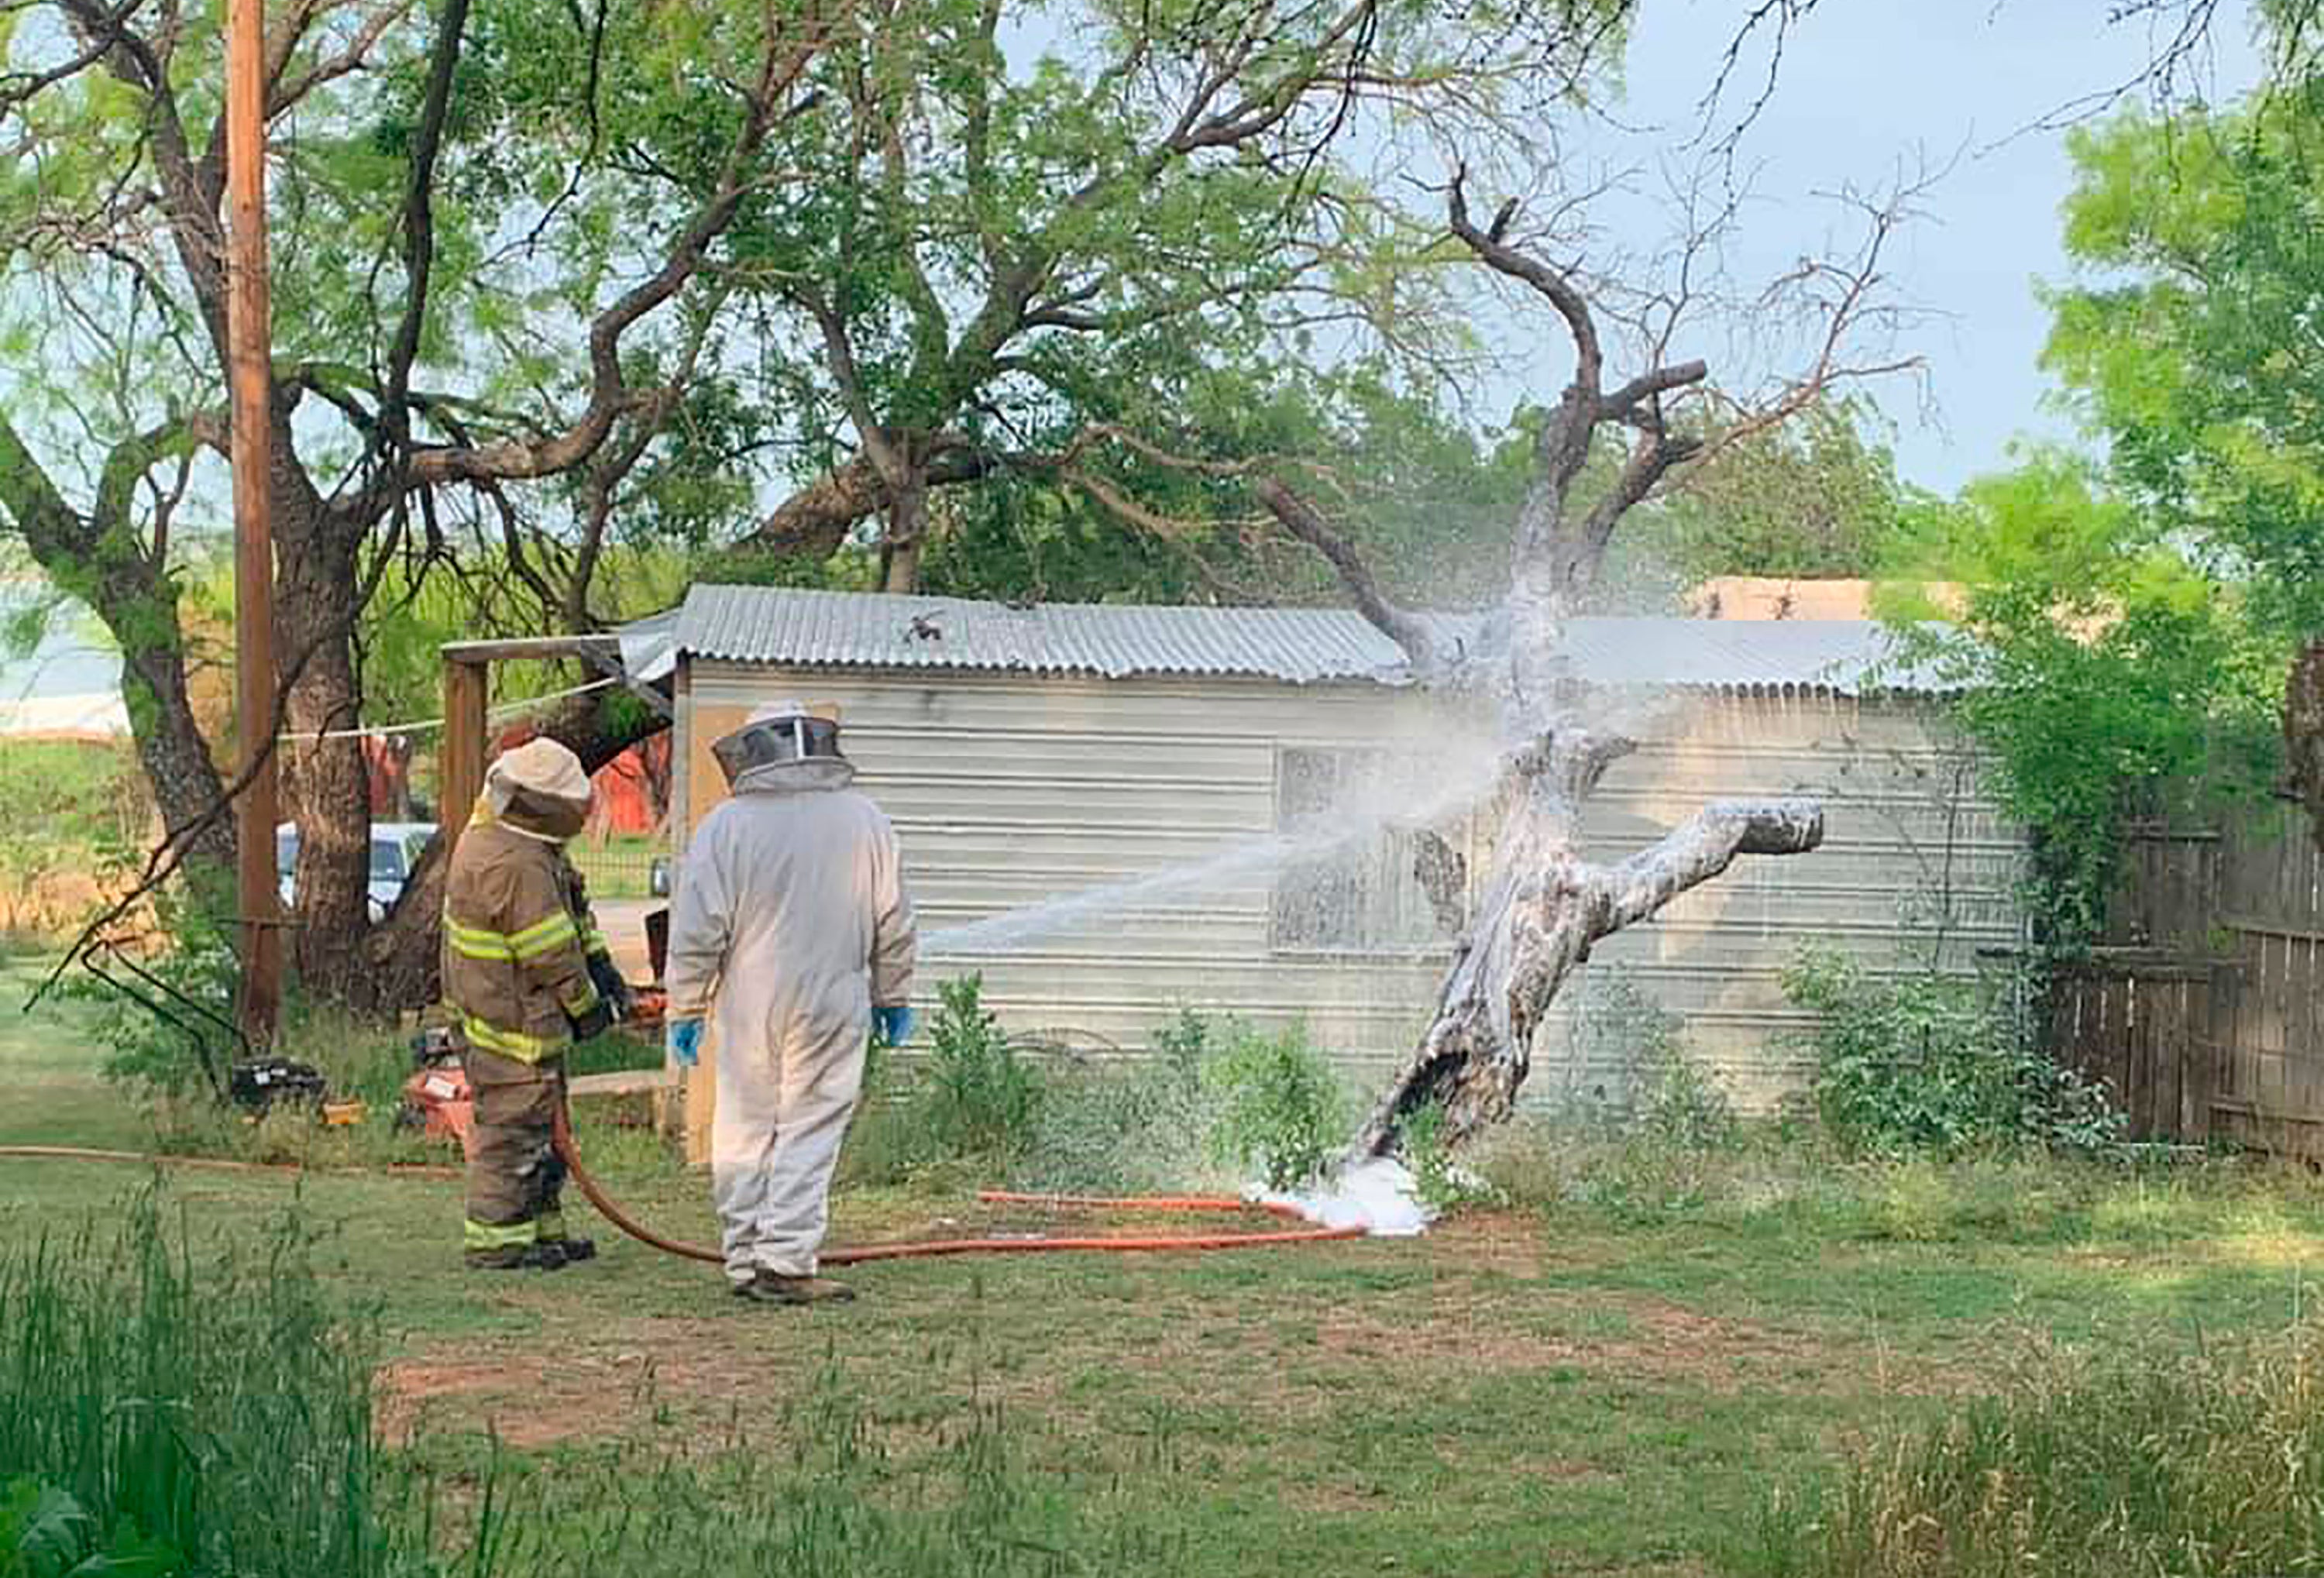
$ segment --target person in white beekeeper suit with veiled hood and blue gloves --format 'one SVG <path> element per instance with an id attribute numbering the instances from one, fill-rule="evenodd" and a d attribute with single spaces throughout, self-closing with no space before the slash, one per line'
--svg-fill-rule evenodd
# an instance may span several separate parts
<path id="1" fill-rule="evenodd" d="M 834 706 L 760 706 L 711 753 L 732 792 L 679 867 L 669 1055 L 693 1067 L 716 1023 L 711 1190 L 734 1294 L 851 1299 L 816 1276 L 816 1248 L 869 1039 L 911 1037 L 916 934 L 895 830 L 855 788 Z"/>

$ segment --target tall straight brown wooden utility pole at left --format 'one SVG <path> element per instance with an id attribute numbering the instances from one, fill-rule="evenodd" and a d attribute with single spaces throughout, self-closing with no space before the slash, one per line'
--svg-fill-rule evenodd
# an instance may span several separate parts
<path id="1" fill-rule="evenodd" d="M 274 876 L 274 528 L 267 518 L 274 351 L 267 323 L 265 0 L 225 5 L 225 342 L 235 465 L 235 804 L 242 913 L 237 1018 L 253 1046 L 281 1006 L 281 902 Z M 239 776 L 237 774 L 237 776 Z"/>

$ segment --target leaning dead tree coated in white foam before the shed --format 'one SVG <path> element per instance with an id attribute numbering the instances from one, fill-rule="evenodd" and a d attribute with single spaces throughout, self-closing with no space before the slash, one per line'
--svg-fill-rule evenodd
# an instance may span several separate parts
<path id="1" fill-rule="evenodd" d="M 1455 177 L 1452 235 L 1480 265 L 1545 302 L 1573 351 L 1573 376 L 1534 446 L 1508 593 L 1466 646 L 1450 646 L 1439 623 L 1397 607 L 1355 541 L 1308 497 L 1281 479 L 1257 483 L 1260 502 L 1339 569 L 1357 609 L 1404 648 L 1413 674 L 1439 690 L 1487 700 L 1508 739 L 1494 869 L 1473 911 L 1462 899 L 1459 858 L 1443 841 L 1425 841 L 1420 878 L 1439 913 L 1459 913 L 1464 925 L 1436 1013 L 1367 1118 L 1360 1153 L 1392 1148 L 1401 1118 L 1427 1104 L 1441 1104 L 1452 1139 L 1506 1118 L 1532 1062 L 1534 1032 L 1601 939 L 1720 876 L 1736 855 L 1803 855 L 1822 844 L 1824 816 L 1810 799 L 1722 802 L 1627 860 L 1585 860 L 1583 804 L 1636 746 L 1597 723 L 1587 688 L 1566 669 L 1564 627 L 1590 604 L 1624 518 L 1680 467 L 1808 409 L 1841 381 L 1913 365 L 1913 358 L 1850 360 L 1848 351 L 1868 323 L 1896 323 L 1894 309 L 1878 300 L 1878 263 L 1906 198 L 1864 205 L 1871 235 L 1852 260 L 1810 260 L 1785 281 L 1778 297 L 1806 302 L 1817 316 L 1815 351 L 1806 372 L 1745 404 L 1715 395 L 1706 363 L 1669 356 L 1685 291 L 1631 318 L 1643 365 L 1618 379 L 1608 370 L 1611 314 L 1592 300 L 1587 277 L 1513 244 L 1513 207 L 1490 225 L 1473 223 L 1464 177 Z M 1762 297 L 1762 307 L 1778 297 Z M 1601 442 L 1622 432 L 1629 444 L 1615 476 L 1585 488 Z"/>

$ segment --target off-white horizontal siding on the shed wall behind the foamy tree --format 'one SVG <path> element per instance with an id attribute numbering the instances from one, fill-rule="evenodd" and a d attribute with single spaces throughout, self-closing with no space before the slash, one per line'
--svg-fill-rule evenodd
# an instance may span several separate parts
<path id="1" fill-rule="evenodd" d="M 786 695 L 841 704 L 862 788 L 897 823 L 932 944 L 923 1004 L 939 976 L 974 969 L 1009 1027 L 1099 1053 L 1143 1050 L 1181 1006 L 1260 1023 L 1301 1018 L 1364 1081 L 1425 1023 L 1441 948 L 1276 948 L 1269 872 L 1232 874 L 1004 953 L 946 955 L 941 939 L 1271 834 L 1283 746 L 1439 751 L 1452 774 L 1471 753 L 1448 746 L 1427 697 L 1376 686 L 795 674 L 695 660 L 679 720 L 683 830 L 716 804 L 709 741 Z M 1683 1013 L 1690 1046 L 1745 1104 L 1771 1102 L 1801 1074 L 1783 1050 L 1796 1016 L 1778 985 L 1801 946 L 1892 962 L 1903 944 L 1941 937 L 1950 960 L 1966 960 L 1980 944 L 2015 937 L 2017 841 L 1917 711 L 1692 697 L 1657 706 L 1636 732 L 1638 755 L 1608 774 L 1590 809 L 1587 841 L 1604 858 L 1652 841 L 1706 799 L 1813 792 L 1827 802 L 1820 853 L 1745 858 L 1724 881 L 1611 939 L 1592 964 L 1624 969 Z M 1943 927 L 1927 913 L 1936 895 Z M 1562 1057 L 1571 1037 L 1557 1023 L 1536 1050 L 1543 1090 L 1597 1076 L 1545 1067 Z"/>

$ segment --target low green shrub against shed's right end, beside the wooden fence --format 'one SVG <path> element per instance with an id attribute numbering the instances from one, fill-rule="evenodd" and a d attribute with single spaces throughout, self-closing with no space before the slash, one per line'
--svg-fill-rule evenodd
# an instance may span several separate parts
<path id="1" fill-rule="evenodd" d="M 1785 995 L 1815 1013 L 1815 1109 L 1845 1146 L 1875 1155 L 2043 1143 L 2103 1150 L 2122 1134 L 2106 1090 L 2061 1069 L 1975 983 L 1929 971 L 1878 981 L 1801 953 Z"/>

